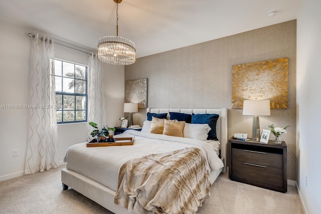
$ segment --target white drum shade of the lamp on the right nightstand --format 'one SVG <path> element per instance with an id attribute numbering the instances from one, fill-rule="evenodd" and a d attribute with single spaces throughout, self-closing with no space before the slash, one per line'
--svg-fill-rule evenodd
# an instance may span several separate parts
<path id="1" fill-rule="evenodd" d="M 271 115 L 269 100 L 244 100 L 243 115 L 268 116 Z"/>

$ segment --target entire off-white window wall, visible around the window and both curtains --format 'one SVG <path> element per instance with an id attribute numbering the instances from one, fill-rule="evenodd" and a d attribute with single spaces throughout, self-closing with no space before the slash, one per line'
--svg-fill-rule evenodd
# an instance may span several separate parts
<path id="1" fill-rule="evenodd" d="M 31 42 L 30 29 L 15 26 L 0 20 L 0 107 L 1 105 L 29 104 L 29 66 Z M 50 35 L 49 35 L 50 36 Z M 56 42 L 68 44 L 66 41 Z M 70 48 L 55 45 L 55 57 L 88 65 L 88 55 Z M 119 126 L 118 117 L 122 117 L 124 102 L 124 66 L 112 66 L 103 63 L 105 78 L 106 117 L 109 126 Z M 29 113 L 27 109 L 0 108 L 0 181 L 24 174 L 26 150 L 29 132 Z M 59 124 L 59 157 L 63 157 L 70 145 L 85 142 L 87 123 Z M 19 156 L 13 157 L 13 150 L 19 150 Z"/>

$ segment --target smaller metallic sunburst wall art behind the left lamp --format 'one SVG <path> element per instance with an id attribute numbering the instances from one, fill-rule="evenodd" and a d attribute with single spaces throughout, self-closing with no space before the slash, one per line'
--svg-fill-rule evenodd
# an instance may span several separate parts
<path id="1" fill-rule="evenodd" d="M 125 103 L 138 103 L 138 108 L 147 108 L 147 78 L 125 81 Z"/>

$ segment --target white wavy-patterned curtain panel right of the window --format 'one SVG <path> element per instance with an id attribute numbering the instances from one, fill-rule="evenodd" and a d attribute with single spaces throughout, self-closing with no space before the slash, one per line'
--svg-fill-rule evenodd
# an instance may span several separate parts
<path id="1" fill-rule="evenodd" d="M 101 62 L 93 53 L 88 63 L 88 122 L 98 124 L 101 129 L 106 124 L 104 76 L 101 74 Z M 88 125 L 88 137 L 93 130 Z"/>

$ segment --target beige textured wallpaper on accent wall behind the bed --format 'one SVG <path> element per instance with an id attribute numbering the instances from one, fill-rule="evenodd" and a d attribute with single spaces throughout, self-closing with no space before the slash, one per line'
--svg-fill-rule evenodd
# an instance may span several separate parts
<path id="1" fill-rule="evenodd" d="M 261 116 L 260 128 L 290 125 L 282 140 L 288 146 L 288 179 L 295 180 L 296 20 L 138 58 L 125 66 L 125 80 L 148 78 L 149 108 L 228 108 L 228 137 L 235 132 L 251 137 L 252 116 L 231 107 L 232 66 L 285 57 L 288 108 L 271 109 L 271 116 Z M 133 117 L 142 125 L 145 109 Z"/>

